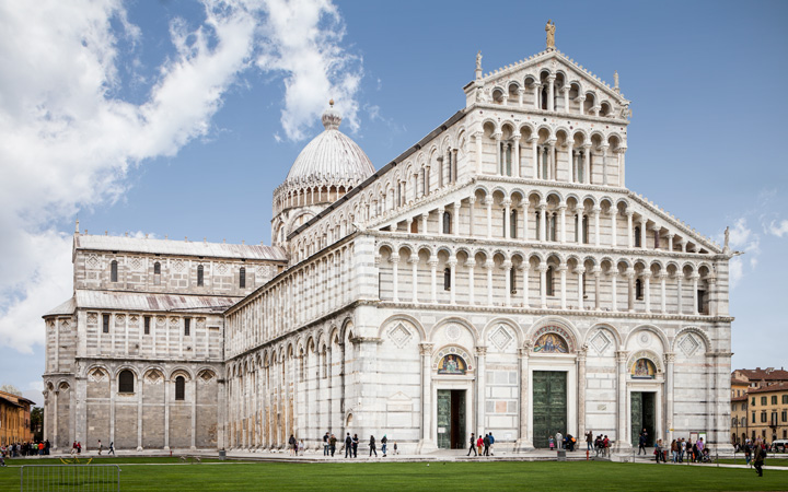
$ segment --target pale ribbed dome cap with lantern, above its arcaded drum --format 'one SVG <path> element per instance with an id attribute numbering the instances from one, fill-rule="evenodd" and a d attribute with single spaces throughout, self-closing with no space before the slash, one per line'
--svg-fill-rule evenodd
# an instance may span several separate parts
<path id="1" fill-rule="evenodd" d="M 331 107 L 323 114 L 325 130 L 315 137 L 296 159 L 285 185 L 322 183 L 356 185 L 374 173 L 367 154 L 348 136 L 339 131 L 341 116 Z"/>

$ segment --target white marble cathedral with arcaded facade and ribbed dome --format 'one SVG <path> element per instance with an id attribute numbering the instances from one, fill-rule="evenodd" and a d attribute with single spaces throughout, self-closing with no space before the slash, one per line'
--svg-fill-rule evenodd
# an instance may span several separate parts
<path id="1" fill-rule="evenodd" d="M 489 73 L 477 55 L 465 106 L 376 171 L 332 103 L 274 191 L 271 246 L 78 225 L 73 296 L 44 315 L 46 437 L 726 445 L 732 253 L 627 189 L 617 74 L 547 34 Z"/>

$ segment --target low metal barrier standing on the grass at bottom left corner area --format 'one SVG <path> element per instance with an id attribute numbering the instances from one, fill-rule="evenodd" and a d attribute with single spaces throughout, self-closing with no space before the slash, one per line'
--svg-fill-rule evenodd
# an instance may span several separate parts
<path id="1" fill-rule="evenodd" d="M 22 492 L 118 492 L 118 465 L 25 465 L 20 470 Z"/>

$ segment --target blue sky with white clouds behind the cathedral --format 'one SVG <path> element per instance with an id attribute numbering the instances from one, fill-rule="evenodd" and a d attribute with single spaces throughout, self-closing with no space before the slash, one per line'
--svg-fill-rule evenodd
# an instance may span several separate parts
<path id="1" fill-rule="evenodd" d="M 627 187 L 721 243 L 733 367 L 788 365 L 788 2 L 0 0 L 0 385 L 43 403 L 42 315 L 90 234 L 270 244 L 322 131 L 376 168 L 485 72 L 556 46 L 633 102 Z"/>

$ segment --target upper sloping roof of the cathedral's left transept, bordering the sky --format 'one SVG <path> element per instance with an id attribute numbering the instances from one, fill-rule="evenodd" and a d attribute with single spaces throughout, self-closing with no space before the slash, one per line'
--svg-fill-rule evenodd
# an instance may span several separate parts
<path id="1" fill-rule="evenodd" d="M 285 261 L 287 256 L 278 246 L 149 239 L 124 236 L 74 235 L 74 250 L 124 251 L 160 255 L 201 256 Z"/>

